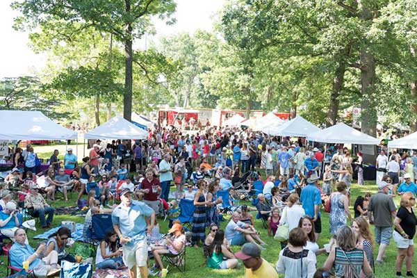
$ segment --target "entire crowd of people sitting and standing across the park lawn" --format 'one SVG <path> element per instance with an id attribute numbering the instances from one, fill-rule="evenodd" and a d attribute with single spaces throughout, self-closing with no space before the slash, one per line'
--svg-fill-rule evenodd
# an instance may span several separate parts
<path id="1" fill-rule="evenodd" d="M 39 218 L 42 228 L 49 229 L 54 208 L 48 202 L 57 194 L 67 200 L 68 193 L 76 192 L 77 204 L 89 208 L 85 239 L 92 215 L 112 215 L 114 230 L 99 243 L 96 268 L 126 265 L 131 277 L 138 277 L 138 271 L 142 277 L 166 275 L 161 257 L 176 256 L 187 244 L 203 247 L 208 268 L 236 268 L 240 259 L 245 277 L 278 277 L 278 273 L 302 278 L 372 277 L 375 265 L 384 263 L 391 237 L 398 247 L 395 275 L 402 275 L 405 259 L 406 275 L 414 276 L 416 152 L 404 159 L 396 152 L 387 158 L 382 151 L 376 163 L 378 193 L 366 193 L 354 203 L 350 199 L 354 172 L 359 185 L 364 184 L 361 153 L 352 158 L 343 146 L 324 150 L 301 138 L 291 142 L 247 129 L 208 126 L 201 134 L 161 129 L 150 132 L 149 140 L 107 144 L 97 140 L 82 163 L 72 148 L 67 148 L 63 161 L 58 156 L 56 150 L 49 168 L 42 172 L 37 170 L 38 156 L 30 145 L 25 150 L 17 147 L 10 156 L 13 169 L 0 192 L 0 233 L 15 242 L 15 254 L 25 254 L 10 258 L 16 268 L 22 268 L 22 258 L 29 261 L 29 269 L 48 266 L 52 271 L 59 269 L 60 261 L 76 261 L 65 251 L 69 229 L 61 227 L 46 245 L 34 250 L 19 228 L 22 223 L 17 216 L 19 207 L 26 208 Z M 265 170 L 265 179 L 259 169 Z M 170 193 L 172 186 L 174 193 Z M 401 195 L 398 208 L 395 195 Z M 120 204 L 111 206 L 115 199 Z M 163 244 L 148 250 L 148 239 L 163 234 L 158 217 L 163 218 L 181 199 L 192 201 L 195 207 L 190 238 L 187 240 L 186 227 L 174 221 Z M 326 247 L 319 247 L 323 205 L 328 208 L 332 238 Z M 220 215 L 227 211 L 230 220 L 222 230 Z M 262 221 L 266 236 L 287 229 L 275 268 L 261 257 L 262 250 L 270 246 L 255 228 L 256 221 Z M 375 225 L 375 238 L 370 224 Z M 243 247 L 234 253 L 233 245 Z M 154 258 L 153 265 L 148 253 Z M 320 254 L 328 254 L 322 268 L 316 259 Z"/>

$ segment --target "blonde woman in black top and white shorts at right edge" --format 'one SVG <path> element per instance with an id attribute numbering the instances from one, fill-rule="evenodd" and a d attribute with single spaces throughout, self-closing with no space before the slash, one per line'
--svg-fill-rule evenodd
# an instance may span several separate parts
<path id="1" fill-rule="evenodd" d="M 404 193 L 401 197 L 400 208 L 395 216 L 393 238 L 398 247 L 398 255 L 395 260 L 397 276 L 401 276 L 402 262 L 405 259 L 407 276 L 414 277 L 411 272 L 414 257 L 413 238 L 416 234 L 417 219 L 413 207 L 416 205 L 416 197 L 411 192 Z"/>

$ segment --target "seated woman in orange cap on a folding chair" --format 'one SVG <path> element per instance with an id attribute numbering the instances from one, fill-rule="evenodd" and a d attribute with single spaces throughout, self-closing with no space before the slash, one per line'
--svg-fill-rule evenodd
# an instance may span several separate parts
<path id="1" fill-rule="evenodd" d="M 161 270 L 164 268 L 161 254 L 178 255 L 186 245 L 186 235 L 184 234 L 183 227 L 180 223 L 174 223 L 172 228 L 168 231 L 168 234 L 170 234 L 170 236 L 165 238 L 165 246 L 152 247 L 155 264 L 154 267 L 149 270 L 151 275 L 155 275 L 158 268 Z"/>

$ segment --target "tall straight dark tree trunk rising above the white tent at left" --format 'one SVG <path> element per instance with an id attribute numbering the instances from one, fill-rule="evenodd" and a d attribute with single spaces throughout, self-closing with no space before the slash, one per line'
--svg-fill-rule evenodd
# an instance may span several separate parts
<path id="1" fill-rule="evenodd" d="M 124 0 L 126 14 L 130 13 L 130 0 Z M 123 117 L 130 121 L 132 115 L 132 83 L 133 83 L 133 49 L 132 49 L 132 25 L 126 25 L 126 41 L 124 42 L 124 95 L 123 95 Z"/>

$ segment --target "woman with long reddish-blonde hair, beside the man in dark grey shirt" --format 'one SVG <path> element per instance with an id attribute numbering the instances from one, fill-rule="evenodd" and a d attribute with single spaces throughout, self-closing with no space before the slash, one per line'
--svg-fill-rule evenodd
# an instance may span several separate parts
<path id="1" fill-rule="evenodd" d="M 357 236 L 357 247 L 366 254 L 366 259 L 372 269 L 374 269 L 373 259 L 373 244 L 374 240 L 370 232 L 369 223 L 366 218 L 360 216 L 354 218 L 352 222 L 352 229 L 354 234 Z"/>

